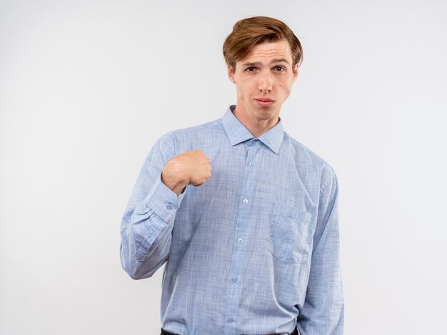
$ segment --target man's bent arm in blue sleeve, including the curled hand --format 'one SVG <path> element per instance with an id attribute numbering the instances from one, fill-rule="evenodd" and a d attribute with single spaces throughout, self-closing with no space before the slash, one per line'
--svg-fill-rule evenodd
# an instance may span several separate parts
<path id="1" fill-rule="evenodd" d="M 168 259 L 176 211 L 185 195 L 181 192 L 211 176 L 210 161 L 202 151 L 173 156 L 169 144 L 157 141 L 121 221 L 121 265 L 133 279 L 152 276 Z"/>

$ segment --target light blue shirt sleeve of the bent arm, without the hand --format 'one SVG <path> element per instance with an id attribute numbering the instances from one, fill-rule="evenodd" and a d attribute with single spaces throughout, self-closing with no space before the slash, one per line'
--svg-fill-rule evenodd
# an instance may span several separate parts
<path id="1" fill-rule="evenodd" d="M 176 211 L 186 192 L 177 196 L 161 182 L 161 171 L 173 156 L 172 146 L 157 141 L 121 221 L 121 265 L 133 279 L 152 276 L 169 257 Z"/>

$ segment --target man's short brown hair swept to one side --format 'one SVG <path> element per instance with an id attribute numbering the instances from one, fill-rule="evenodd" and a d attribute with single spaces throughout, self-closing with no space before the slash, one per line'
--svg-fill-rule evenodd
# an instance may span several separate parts
<path id="1" fill-rule="evenodd" d="M 292 51 L 292 66 L 303 60 L 303 48 L 298 38 L 282 21 L 268 16 L 254 16 L 237 21 L 224 42 L 226 64 L 236 69 L 236 62 L 244 59 L 253 46 L 264 42 L 286 39 Z"/>

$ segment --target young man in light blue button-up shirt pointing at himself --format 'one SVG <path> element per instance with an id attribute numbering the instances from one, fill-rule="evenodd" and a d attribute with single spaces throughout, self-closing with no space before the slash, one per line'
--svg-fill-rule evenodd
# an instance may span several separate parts
<path id="1" fill-rule="evenodd" d="M 253 17 L 224 56 L 236 106 L 156 142 L 121 224 L 121 263 L 141 279 L 166 262 L 162 334 L 343 334 L 336 175 L 279 119 L 301 44 Z"/>

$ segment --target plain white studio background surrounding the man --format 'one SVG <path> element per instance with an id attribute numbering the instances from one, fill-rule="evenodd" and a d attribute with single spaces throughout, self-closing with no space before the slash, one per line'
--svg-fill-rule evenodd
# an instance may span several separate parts
<path id="1" fill-rule="evenodd" d="M 446 334 L 445 1 L 0 0 L 0 334 L 159 334 L 119 225 L 166 131 L 235 102 L 221 46 L 285 21 L 286 131 L 341 186 L 345 334 Z"/>

